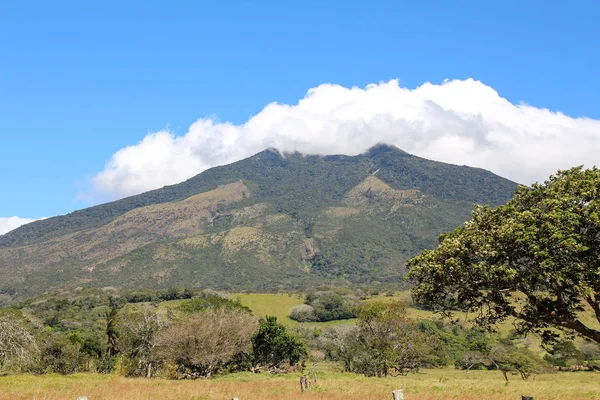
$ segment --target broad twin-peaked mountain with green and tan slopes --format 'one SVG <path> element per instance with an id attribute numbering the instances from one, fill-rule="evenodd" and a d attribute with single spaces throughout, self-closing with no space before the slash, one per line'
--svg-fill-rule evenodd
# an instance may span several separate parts
<path id="1" fill-rule="evenodd" d="M 0 236 L 0 293 L 56 288 L 304 289 L 398 284 L 404 261 L 517 184 L 379 145 L 265 150 L 185 182 Z"/>

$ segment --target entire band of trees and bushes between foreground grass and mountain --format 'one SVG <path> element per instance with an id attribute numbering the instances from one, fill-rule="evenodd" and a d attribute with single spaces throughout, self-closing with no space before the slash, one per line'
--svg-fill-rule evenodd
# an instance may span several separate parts
<path id="1" fill-rule="evenodd" d="M 147 295 L 180 301 L 140 301 Z M 460 325 L 412 320 L 399 301 L 354 304 L 351 294 L 310 293 L 306 302 L 315 315 L 320 307 L 335 314 L 336 307 L 343 310 L 352 303 L 356 324 L 292 331 L 275 317 L 258 318 L 216 292 L 148 291 L 143 296 L 97 293 L 0 309 L 0 370 L 184 379 L 249 370 L 284 372 L 308 361 L 329 360 L 366 376 L 454 365 L 466 372 L 498 370 L 505 379 L 516 372 L 527 379 L 552 366 L 600 366 L 595 345 L 558 342 L 542 358 L 522 339 L 499 340 Z"/>

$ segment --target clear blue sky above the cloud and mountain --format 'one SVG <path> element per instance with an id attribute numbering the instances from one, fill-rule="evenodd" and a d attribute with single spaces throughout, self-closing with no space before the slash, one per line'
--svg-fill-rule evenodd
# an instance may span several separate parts
<path id="1" fill-rule="evenodd" d="M 85 207 L 147 133 L 243 124 L 324 83 L 473 78 L 598 120 L 599 17 L 594 1 L 2 1 L 0 217 Z"/>

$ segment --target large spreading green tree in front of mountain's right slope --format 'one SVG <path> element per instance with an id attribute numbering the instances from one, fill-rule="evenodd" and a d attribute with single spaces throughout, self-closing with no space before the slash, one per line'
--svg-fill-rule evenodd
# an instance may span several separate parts
<path id="1" fill-rule="evenodd" d="M 413 297 L 480 326 L 516 318 L 519 332 L 549 343 L 554 329 L 600 343 L 600 170 L 559 171 L 521 186 L 506 205 L 476 206 L 473 219 L 407 262 Z"/>

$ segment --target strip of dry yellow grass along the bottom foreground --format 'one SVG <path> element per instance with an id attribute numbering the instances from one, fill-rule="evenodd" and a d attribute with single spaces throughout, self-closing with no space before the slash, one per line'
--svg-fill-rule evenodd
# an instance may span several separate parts
<path id="1" fill-rule="evenodd" d="M 84 395 L 89 400 L 231 400 L 234 396 L 240 400 L 388 400 L 392 390 L 399 388 L 407 400 L 520 400 L 522 395 L 536 400 L 600 399 L 600 374 L 595 372 L 561 372 L 529 381 L 512 376 L 505 384 L 497 371 L 465 374 L 447 368 L 397 378 L 329 371 L 320 372 L 318 384 L 305 393 L 300 393 L 298 377 L 238 373 L 212 380 L 169 381 L 96 374 L 12 375 L 0 377 L 0 400 L 74 400 Z"/>

